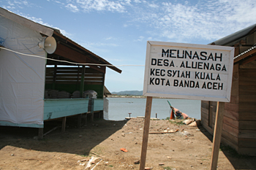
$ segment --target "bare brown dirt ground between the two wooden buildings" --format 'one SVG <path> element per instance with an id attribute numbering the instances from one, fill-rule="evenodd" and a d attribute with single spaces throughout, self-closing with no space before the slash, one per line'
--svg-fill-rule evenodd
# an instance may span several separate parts
<path id="1" fill-rule="evenodd" d="M 38 140 L 37 128 L 0 127 L 0 169 L 85 169 L 90 158 L 101 160 L 94 170 L 139 169 L 143 118 L 128 121 L 95 120 L 77 128 L 67 119 L 67 128 Z M 45 123 L 44 133 L 61 122 Z M 201 126 L 189 127 L 169 120 L 151 120 L 146 167 L 153 169 L 210 169 L 212 136 Z M 125 148 L 128 152 L 120 149 Z M 94 154 L 95 153 L 95 154 Z M 230 147 L 219 151 L 218 169 L 256 169 L 256 157 L 238 155 Z"/>

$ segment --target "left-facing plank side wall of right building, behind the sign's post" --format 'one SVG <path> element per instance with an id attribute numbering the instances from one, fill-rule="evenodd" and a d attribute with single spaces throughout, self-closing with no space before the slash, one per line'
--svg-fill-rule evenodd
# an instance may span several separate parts
<path id="1" fill-rule="evenodd" d="M 228 144 L 236 150 L 238 150 L 238 101 L 238 65 L 235 65 L 230 103 L 225 103 L 222 143 Z M 210 134 L 214 134 L 216 111 L 216 101 L 201 101 L 201 123 Z"/>

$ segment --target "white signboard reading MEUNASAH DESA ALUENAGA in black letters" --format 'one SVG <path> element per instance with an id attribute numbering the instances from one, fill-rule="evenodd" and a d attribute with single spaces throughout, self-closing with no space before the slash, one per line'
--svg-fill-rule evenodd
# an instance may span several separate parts
<path id="1" fill-rule="evenodd" d="M 234 47 L 148 41 L 144 96 L 230 101 Z"/>

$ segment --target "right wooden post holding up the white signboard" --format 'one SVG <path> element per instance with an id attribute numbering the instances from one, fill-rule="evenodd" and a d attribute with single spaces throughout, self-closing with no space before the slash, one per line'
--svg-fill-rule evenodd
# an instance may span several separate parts
<path id="1" fill-rule="evenodd" d="M 218 157 L 219 157 L 219 146 L 220 140 L 222 139 L 222 124 L 223 124 L 223 115 L 224 115 L 224 102 L 217 103 L 217 112 L 215 117 L 215 126 L 214 126 L 214 140 L 213 147 L 211 152 L 211 170 L 217 169 Z"/>

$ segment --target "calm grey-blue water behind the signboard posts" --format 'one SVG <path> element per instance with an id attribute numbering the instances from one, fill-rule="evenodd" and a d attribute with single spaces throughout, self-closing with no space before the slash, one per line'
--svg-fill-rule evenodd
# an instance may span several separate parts
<path id="1" fill-rule="evenodd" d="M 106 98 L 108 100 L 108 113 L 105 114 L 106 120 L 124 120 L 125 117 L 145 116 L 146 98 Z M 170 117 L 170 101 L 172 107 L 186 113 L 189 117 L 200 119 L 201 101 L 172 99 L 172 98 L 153 98 L 151 107 L 151 117 L 165 119 Z"/>

